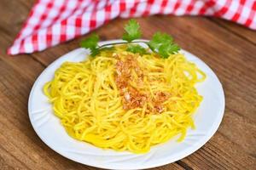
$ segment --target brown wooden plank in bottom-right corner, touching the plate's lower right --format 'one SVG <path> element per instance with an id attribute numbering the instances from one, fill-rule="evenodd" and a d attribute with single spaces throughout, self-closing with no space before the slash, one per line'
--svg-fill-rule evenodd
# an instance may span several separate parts
<path id="1" fill-rule="evenodd" d="M 201 150 L 182 161 L 193 169 L 255 169 L 256 158 L 237 148 L 239 145 L 227 139 L 224 134 L 216 133 Z"/>

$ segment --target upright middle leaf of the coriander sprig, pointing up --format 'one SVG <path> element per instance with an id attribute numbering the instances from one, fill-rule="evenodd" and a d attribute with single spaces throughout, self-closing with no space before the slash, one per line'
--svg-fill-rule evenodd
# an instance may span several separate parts
<path id="1" fill-rule="evenodd" d="M 140 26 L 136 20 L 129 20 L 128 24 L 125 25 L 125 33 L 123 35 L 123 40 L 131 42 L 135 39 L 140 38 L 142 35 L 140 31 Z"/>

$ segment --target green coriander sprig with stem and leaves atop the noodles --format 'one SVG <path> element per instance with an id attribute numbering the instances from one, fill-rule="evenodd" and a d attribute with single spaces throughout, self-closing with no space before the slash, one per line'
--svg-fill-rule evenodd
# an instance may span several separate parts
<path id="1" fill-rule="evenodd" d="M 152 40 L 150 40 L 149 42 L 137 40 L 141 37 L 141 35 L 142 33 L 140 31 L 140 26 L 137 21 L 129 20 L 128 24 L 125 25 L 125 33 L 123 35 L 123 40 L 125 40 L 125 42 L 113 42 L 98 46 L 99 37 L 96 34 L 93 34 L 81 42 L 81 47 L 89 48 L 91 53 L 90 55 L 96 56 L 103 50 L 113 50 L 113 47 L 109 48 L 108 46 L 127 44 L 126 51 L 134 54 L 138 53 L 143 55 L 147 54 L 147 50 L 138 44 L 133 44 L 137 42 L 143 42 L 148 45 L 148 48 L 150 48 L 153 53 L 159 54 L 160 57 L 164 59 L 168 58 L 171 54 L 176 54 L 180 49 L 180 47 L 175 42 L 173 42 L 173 38 L 166 33 L 155 33 L 152 37 Z M 134 42 L 134 40 L 137 41 Z"/>

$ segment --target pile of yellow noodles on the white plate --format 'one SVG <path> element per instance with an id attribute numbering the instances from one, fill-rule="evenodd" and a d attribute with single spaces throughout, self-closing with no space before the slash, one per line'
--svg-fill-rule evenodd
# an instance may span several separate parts
<path id="1" fill-rule="evenodd" d="M 116 83 L 116 64 L 127 56 L 133 57 L 143 71 L 140 86 L 136 75 L 129 80 L 133 88 L 150 99 L 158 92 L 170 94 L 161 103 L 162 111 L 150 110 L 149 102 L 124 108 Z M 192 115 L 202 100 L 195 83 L 205 78 L 183 54 L 161 59 L 156 54 L 132 54 L 116 46 L 114 51 L 103 51 L 83 62 L 63 63 L 45 84 L 44 94 L 73 138 L 104 149 L 145 153 L 177 134 L 182 141 L 187 129 L 195 127 Z"/>

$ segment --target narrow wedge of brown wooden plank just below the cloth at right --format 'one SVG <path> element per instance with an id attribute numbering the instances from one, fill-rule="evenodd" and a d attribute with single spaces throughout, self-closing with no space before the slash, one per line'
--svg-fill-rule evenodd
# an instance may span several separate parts
<path id="1" fill-rule="evenodd" d="M 234 22 L 231 22 L 229 20 L 222 20 L 222 19 L 211 19 L 215 23 L 218 24 L 218 26 L 222 26 L 228 31 L 233 32 L 239 37 L 242 37 L 246 39 L 249 42 L 252 42 L 254 45 L 256 45 L 256 33 L 255 30 L 248 29 L 245 26 L 238 25 Z"/>

